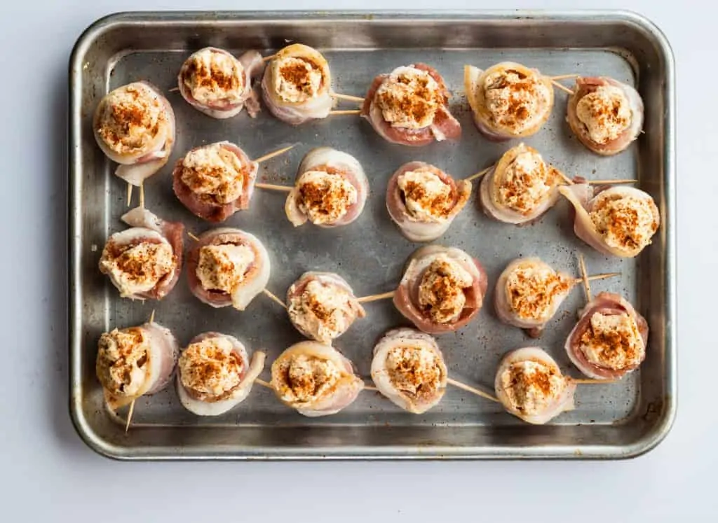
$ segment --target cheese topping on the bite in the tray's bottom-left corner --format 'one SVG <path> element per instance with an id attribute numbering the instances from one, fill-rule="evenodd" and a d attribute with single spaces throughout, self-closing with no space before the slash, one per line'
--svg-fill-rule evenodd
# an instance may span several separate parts
<path id="1" fill-rule="evenodd" d="M 139 327 L 100 336 L 97 377 L 113 395 L 134 396 L 145 384 L 149 369 L 149 341 Z"/>

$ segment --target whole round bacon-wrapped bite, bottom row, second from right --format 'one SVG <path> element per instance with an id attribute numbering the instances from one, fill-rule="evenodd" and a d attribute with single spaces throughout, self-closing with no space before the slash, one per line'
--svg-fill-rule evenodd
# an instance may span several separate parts
<path id="1" fill-rule="evenodd" d="M 374 347 L 371 378 L 394 405 L 422 414 L 447 389 L 447 366 L 437 341 L 416 329 L 392 329 Z"/>

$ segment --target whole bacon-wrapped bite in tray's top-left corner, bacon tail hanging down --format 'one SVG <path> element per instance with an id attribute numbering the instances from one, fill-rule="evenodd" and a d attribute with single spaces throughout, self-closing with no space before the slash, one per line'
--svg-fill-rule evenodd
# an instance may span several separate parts
<path id="1" fill-rule="evenodd" d="M 174 111 L 154 85 L 133 82 L 103 96 L 95 109 L 93 131 L 103 153 L 120 164 L 115 174 L 139 186 L 172 154 Z"/>

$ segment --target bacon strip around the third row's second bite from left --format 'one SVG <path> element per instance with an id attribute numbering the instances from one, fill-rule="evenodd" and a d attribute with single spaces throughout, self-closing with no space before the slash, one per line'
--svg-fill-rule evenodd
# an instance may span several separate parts
<path id="1" fill-rule="evenodd" d="M 254 262 L 248 268 L 244 281 L 233 293 L 215 289 L 208 290 L 202 287 L 200 278 L 197 277 L 197 264 L 200 261 L 200 250 L 207 245 L 245 245 L 254 253 Z M 187 253 L 187 283 L 190 286 L 190 291 L 200 301 L 215 308 L 231 305 L 239 311 L 243 311 L 258 294 L 264 291 L 269 282 L 270 273 L 269 253 L 262 242 L 249 232 L 239 229 L 220 227 L 208 230 L 200 235 L 200 240 Z"/>

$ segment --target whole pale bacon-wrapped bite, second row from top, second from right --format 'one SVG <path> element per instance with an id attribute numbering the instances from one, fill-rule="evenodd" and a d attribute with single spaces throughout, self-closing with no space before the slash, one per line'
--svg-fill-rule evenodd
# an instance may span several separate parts
<path id="1" fill-rule="evenodd" d="M 559 199 L 563 178 L 536 149 L 523 143 L 506 151 L 481 180 L 479 198 L 495 220 L 523 225 L 538 220 Z"/>

